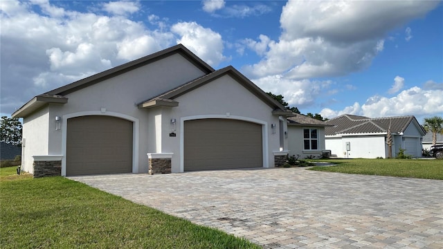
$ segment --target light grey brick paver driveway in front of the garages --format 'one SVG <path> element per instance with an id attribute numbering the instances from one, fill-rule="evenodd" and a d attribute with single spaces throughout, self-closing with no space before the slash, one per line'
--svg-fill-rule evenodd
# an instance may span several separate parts
<path id="1" fill-rule="evenodd" d="M 71 179 L 264 248 L 443 248 L 443 181 L 302 168 Z"/>

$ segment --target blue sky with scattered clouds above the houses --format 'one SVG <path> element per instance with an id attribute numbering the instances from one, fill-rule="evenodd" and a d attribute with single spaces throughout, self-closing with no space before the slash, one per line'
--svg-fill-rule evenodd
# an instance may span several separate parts
<path id="1" fill-rule="evenodd" d="M 2 116 L 183 44 L 301 113 L 443 116 L 442 1 L 0 1 Z"/>

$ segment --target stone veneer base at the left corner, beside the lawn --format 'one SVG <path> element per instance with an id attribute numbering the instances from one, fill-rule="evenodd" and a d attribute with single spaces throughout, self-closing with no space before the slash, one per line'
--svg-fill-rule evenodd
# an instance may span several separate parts
<path id="1" fill-rule="evenodd" d="M 62 175 L 62 156 L 33 156 L 34 178 Z"/>

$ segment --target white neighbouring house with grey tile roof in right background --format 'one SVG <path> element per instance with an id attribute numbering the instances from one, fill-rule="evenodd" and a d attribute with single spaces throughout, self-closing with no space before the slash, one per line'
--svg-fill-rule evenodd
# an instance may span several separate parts
<path id="1" fill-rule="evenodd" d="M 363 116 L 342 115 L 327 124 L 325 128 L 326 149 L 338 158 L 386 158 L 388 130 L 392 136 L 392 157 L 399 149 L 405 154 L 422 156 L 422 137 L 426 133 L 414 116 L 368 118 Z"/>

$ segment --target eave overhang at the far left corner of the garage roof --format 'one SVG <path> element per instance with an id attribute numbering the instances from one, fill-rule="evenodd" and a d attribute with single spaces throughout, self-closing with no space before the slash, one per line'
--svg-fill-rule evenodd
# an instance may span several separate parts
<path id="1" fill-rule="evenodd" d="M 24 118 L 30 115 L 30 113 L 44 107 L 46 104 L 66 104 L 67 102 L 68 98 L 61 95 L 37 95 L 32 100 L 29 100 L 26 104 L 24 104 L 23 107 L 20 107 L 20 109 L 12 113 L 11 117 Z"/>

